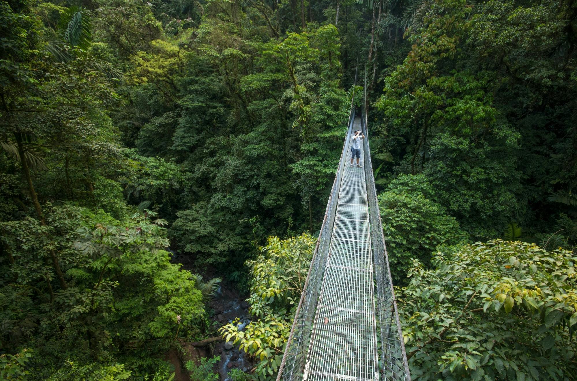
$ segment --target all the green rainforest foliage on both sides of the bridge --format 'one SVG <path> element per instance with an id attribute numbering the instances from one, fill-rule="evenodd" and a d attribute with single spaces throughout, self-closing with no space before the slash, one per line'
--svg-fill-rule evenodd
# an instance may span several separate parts
<path id="1" fill-rule="evenodd" d="M 363 90 L 413 379 L 575 374 L 576 2 L 0 0 L 0 36 L 0 378 L 166 381 L 218 333 L 273 378 Z"/>

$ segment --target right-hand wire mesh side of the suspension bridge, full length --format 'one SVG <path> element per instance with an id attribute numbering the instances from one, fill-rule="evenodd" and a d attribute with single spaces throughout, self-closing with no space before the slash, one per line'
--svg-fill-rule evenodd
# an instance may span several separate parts
<path id="1" fill-rule="evenodd" d="M 363 115 L 364 117 L 364 115 Z M 366 132 L 366 119 L 363 120 Z M 379 355 L 382 367 L 381 379 L 410 381 L 409 365 L 404 352 L 404 342 L 400 330 L 399 315 L 396 308 L 391 272 L 387 258 L 387 249 L 383 237 L 383 227 L 377 205 L 377 193 L 374 187 L 373 166 L 370 161 L 369 139 L 363 142 L 365 157 L 365 175 L 370 209 L 370 235 L 373 249 L 374 273 L 377 284 L 376 307 L 377 327 L 379 328 Z"/>

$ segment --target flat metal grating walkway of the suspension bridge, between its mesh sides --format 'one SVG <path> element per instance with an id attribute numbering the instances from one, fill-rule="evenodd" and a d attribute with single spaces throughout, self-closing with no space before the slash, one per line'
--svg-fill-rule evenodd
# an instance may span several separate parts
<path id="1" fill-rule="evenodd" d="M 360 118 L 353 127 L 361 129 Z M 361 145 L 362 166 L 363 158 Z M 304 381 L 379 379 L 365 169 L 354 165 L 347 158 Z"/>

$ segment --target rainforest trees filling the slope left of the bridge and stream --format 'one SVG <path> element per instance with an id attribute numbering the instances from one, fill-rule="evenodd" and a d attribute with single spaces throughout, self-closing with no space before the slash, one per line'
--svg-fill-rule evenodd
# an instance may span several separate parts
<path id="1" fill-rule="evenodd" d="M 282 21 L 288 3 L 0 6 L 5 377 L 163 379 L 179 339 L 214 334 L 220 281 L 164 249 L 246 279 L 268 235 L 320 226 L 348 115 L 339 29 L 324 7 Z"/>

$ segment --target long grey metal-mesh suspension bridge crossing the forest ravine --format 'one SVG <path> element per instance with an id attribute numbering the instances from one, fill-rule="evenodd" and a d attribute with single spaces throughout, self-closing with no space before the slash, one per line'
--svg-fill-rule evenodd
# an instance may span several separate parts
<path id="1" fill-rule="evenodd" d="M 360 115 L 351 102 L 335 182 L 277 381 L 411 379 L 374 187 L 366 94 L 364 101 Z M 357 129 L 365 135 L 361 167 L 351 167 Z"/>

